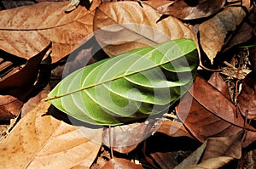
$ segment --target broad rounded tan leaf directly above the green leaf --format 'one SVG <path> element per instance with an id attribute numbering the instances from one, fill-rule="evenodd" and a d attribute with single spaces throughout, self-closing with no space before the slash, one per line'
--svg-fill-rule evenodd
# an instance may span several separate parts
<path id="1" fill-rule="evenodd" d="M 105 3 L 96 9 L 96 40 L 110 56 L 174 39 L 195 40 L 193 32 L 180 20 L 170 16 L 158 22 L 160 16 L 148 4 L 141 7 L 131 1 Z"/>

